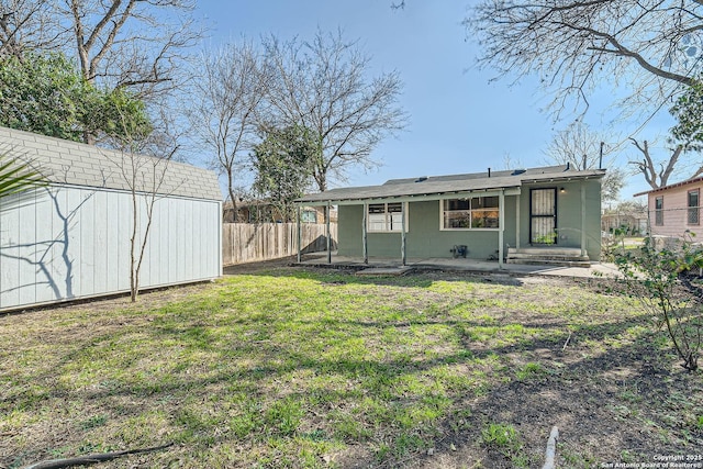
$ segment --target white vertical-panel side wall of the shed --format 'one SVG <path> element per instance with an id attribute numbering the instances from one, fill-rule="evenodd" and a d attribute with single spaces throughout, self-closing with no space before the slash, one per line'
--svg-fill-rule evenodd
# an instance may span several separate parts
<path id="1" fill-rule="evenodd" d="M 169 197 L 154 210 L 141 287 L 219 277 L 221 202 Z M 54 186 L 3 198 L 0 310 L 129 291 L 131 230 L 129 192 Z"/>

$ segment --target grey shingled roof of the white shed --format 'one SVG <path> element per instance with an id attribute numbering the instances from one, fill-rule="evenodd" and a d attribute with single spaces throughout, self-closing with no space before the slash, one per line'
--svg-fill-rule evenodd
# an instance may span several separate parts
<path id="1" fill-rule="evenodd" d="M 122 152 L 0 127 L 3 155 L 27 161 L 51 183 L 130 190 L 132 165 Z M 158 187 L 156 192 L 164 196 L 222 200 L 213 171 L 143 155 L 136 155 L 135 161 L 142 168 L 137 190 L 150 192 Z M 155 185 L 161 175 L 161 183 Z"/>

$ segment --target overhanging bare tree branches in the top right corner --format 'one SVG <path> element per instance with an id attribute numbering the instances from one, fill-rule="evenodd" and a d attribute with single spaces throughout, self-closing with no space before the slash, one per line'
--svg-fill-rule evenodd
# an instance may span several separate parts
<path id="1" fill-rule="evenodd" d="M 482 66 L 538 75 L 558 116 L 571 100 L 588 109 L 594 88 L 627 87 L 627 103 L 651 110 L 692 82 L 699 67 L 700 0 L 483 0 L 465 24 Z"/>

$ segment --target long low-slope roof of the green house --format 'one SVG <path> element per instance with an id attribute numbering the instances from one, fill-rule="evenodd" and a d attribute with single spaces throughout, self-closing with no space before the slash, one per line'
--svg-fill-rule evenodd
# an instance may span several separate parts
<path id="1" fill-rule="evenodd" d="M 605 169 L 571 169 L 569 165 L 467 175 L 391 179 L 380 186 L 331 189 L 298 199 L 299 203 L 345 202 L 401 197 L 443 196 L 471 191 L 520 188 L 526 183 L 602 178 Z"/>

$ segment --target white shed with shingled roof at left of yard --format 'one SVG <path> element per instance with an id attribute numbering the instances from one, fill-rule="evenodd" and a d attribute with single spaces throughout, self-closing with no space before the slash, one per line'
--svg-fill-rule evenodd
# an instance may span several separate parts
<path id="1" fill-rule="evenodd" d="M 148 194 L 158 194 L 141 288 L 222 275 L 214 172 L 5 127 L 0 154 L 31 161 L 48 181 L 0 199 L 0 310 L 130 290 L 133 174 L 141 234 Z"/>

